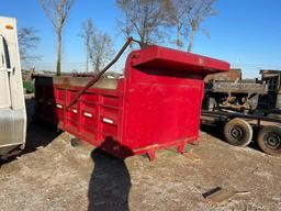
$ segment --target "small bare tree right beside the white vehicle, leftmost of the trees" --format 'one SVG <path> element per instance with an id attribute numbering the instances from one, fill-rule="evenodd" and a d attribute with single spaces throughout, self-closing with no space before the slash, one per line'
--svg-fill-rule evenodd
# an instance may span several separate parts
<path id="1" fill-rule="evenodd" d="M 40 37 L 37 31 L 33 27 L 21 27 L 18 33 L 20 56 L 22 62 L 38 59 L 33 51 L 37 47 Z"/>

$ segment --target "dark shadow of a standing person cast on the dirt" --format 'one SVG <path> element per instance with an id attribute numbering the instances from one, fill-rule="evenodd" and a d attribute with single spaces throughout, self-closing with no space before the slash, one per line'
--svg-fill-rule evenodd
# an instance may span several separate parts
<path id="1" fill-rule="evenodd" d="M 113 157 L 99 148 L 92 151 L 91 158 L 94 168 L 89 182 L 88 211 L 128 211 L 132 184 L 124 159 Z"/>

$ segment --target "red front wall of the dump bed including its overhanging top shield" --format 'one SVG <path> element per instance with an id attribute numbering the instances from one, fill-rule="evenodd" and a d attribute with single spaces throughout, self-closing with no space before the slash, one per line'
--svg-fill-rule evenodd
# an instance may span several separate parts
<path id="1" fill-rule="evenodd" d="M 159 46 L 132 52 L 125 68 L 126 135 L 134 151 L 198 140 L 203 78 L 229 64 Z"/>

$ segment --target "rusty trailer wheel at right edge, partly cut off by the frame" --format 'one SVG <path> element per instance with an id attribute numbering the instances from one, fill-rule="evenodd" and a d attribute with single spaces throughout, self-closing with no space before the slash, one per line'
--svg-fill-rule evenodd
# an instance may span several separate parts
<path id="1" fill-rule="evenodd" d="M 258 133 L 258 145 L 270 155 L 281 154 L 281 126 L 262 126 Z"/>

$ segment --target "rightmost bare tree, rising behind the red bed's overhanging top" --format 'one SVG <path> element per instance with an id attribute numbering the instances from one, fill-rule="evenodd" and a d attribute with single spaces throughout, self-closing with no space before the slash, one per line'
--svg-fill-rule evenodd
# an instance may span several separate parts
<path id="1" fill-rule="evenodd" d="M 194 4 L 192 5 L 192 9 L 189 12 L 190 36 L 188 52 L 191 52 L 192 49 L 195 32 L 200 30 L 200 24 L 202 23 L 202 21 L 207 16 L 215 14 L 215 10 L 213 8 L 214 2 L 215 0 L 194 1 Z M 201 30 L 206 36 L 210 36 L 206 30 Z"/>

